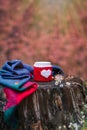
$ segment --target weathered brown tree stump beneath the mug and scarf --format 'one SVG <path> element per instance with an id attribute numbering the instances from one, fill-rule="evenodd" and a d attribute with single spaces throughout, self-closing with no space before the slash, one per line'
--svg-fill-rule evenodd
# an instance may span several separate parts
<path id="1" fill-rule="evenodd" d="M 58 84 L 55 80 L 38 84 L 37 91 L 17 107 L 18 130 L 72 130 L 70 123 L 82 126 L 86 96 L 82 80 L 66 77 Z M 3 112 L 0 113 L 0 130 L 13 130 L 4 123 Z"/>

